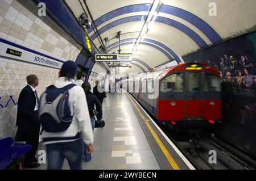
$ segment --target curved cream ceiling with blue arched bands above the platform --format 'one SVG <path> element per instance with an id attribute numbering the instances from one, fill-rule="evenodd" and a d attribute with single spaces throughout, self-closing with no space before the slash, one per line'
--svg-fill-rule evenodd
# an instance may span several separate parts
<path id="1" fill-rule="evenodd" d="M 79 2 L 65 1 L 78 18 L 83 12 Z M 118 31 L 121 31 L 121 53 L 131 53 L 153 2 L 153 0 L 141 0 L 139 3 L 136 0 L 86 0 L 101 39 L 105 37 L 110 39 L 107 46 L 110 53 L 119 48 L 118 39 L 113 39 Z M 212 0 L 162 0 L 161 2 L 164 5 L 146 37 L 139 44 L 131 65 L 137 64 L 143 69 L 149 69 L 167 61 L 184 62 L 181 56 L 241 35 L 256 25 L 253 21 L 244 21 L 249 17 L 256 19 L 254 0 L 233 0 L 232 5 L 229 1 L 215 0 L 217 16 L 208 14 L 209 3 Z M 83 2 L 82 6 L 86 9 Z M 158 10 L 159 5 L 155 12 Z M 88 32 L 97 48 L 100 47 L 92 27 Z M 126 69 L 124 73 L 131 71 L 138 71 L 138 66 Z"/>

